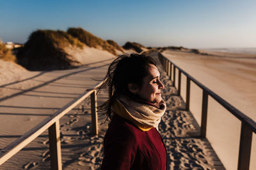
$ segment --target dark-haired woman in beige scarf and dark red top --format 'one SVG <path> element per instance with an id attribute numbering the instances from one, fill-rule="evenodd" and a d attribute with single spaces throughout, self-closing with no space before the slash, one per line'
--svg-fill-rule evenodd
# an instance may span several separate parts
<path id="1" fill-rule="evenodd" d="M 99 111 L 110 119 L 101 169 L 166 169 L 166 148 L 157 131 L 166 110 L 159 76 L 156 62 L 145 55 L 120 55 L 110 64 L 99 88 L 109 88 Z"/>

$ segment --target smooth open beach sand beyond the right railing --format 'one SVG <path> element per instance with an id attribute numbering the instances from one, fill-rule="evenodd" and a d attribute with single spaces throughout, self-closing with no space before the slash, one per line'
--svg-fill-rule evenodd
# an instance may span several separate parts
<path id="1" fill-rule="evenodd" d="M 196 80 L 216 92 L 248 117 L 256 120 L 256 55 L 206 51 L 209 55 L 166 50 L 163 55 Z M 185 98 L 186 79 L 182 76 Z M 177 87 L 177 85 L 176 85 Z M 192 111 L 200 124 L 202 90 L 191 84 Z M 227 169 L 237 169 L 241 122 L 209 98 L 207 138 Z M 256 138 L 253 134 L 250 169 L 256 169 Z"/>

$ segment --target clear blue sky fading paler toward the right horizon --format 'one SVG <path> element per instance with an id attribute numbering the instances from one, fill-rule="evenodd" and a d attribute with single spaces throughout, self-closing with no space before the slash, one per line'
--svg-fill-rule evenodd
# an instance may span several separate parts
<path id="1" fill-rule="evenodd" d="M 83 27 L 119 45 L 256 47 L 255 0 L 1 1 L 0 39 L 25 43 L 37 29 Z"/>

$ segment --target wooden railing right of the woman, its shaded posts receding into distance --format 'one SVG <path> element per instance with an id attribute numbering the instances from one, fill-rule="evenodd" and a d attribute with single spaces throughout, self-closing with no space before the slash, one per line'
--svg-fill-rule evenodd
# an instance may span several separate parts
<path id="1" fill-rule="evenodd" d="M 240 145 L 239 145 L 239 157 L 238 157 L 238 166 L 239 170 L 248 170 L 250 166 L 250 154 L 252 147 L 252 133 L 256 134 L 256 123 L 244 113 L 237 110 L 234 106 L 227 103 L 220 96 L 212 92 L 210 89 L 202 85 L 199 81 L 195 80 L 188 73 L 180 69 L 180 67 L 173 64 L 172 61 L 164 57 L 161 53 L 158 53 L 159 60 L 164 67 L 164 71 L 170 76 L 170 80 L 173 81 L 173 86 L 175 87 L 175 81 L 178 81 L 178 95 L 180 95 L 180 83 L 181 83 L 181 73 L 186 76 L 186 110 L 189 110 L 189 98 L 190 98 L 190 81 L 193 81 L 198 87 L 203 90 L 202 97 L 202 117 L 201 117 L 201 128 L 200 128 L 200 137 L 206 137 L 206 128 L 207 128 L 207 107 L 208 107 L 208 96 L 211 96 L 215 101 L 220 103 L 224 108 L 226 108 L 232 115 L 238 118 L 241 121 L 241 136 L 240 136 Z M 178 78 L 175 78 L 175 71 L 179 71 Z"/>

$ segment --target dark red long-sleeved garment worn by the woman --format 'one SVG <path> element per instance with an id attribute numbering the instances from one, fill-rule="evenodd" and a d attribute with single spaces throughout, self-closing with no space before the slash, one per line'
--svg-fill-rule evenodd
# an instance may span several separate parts
<path id="1" fill-rule="evenodd" d="M 143 132 L 118 115 L 112 118 L 101 169 L 165 170 L 166 164 L 166 148 L 156 128 Z"/>

